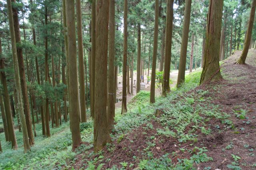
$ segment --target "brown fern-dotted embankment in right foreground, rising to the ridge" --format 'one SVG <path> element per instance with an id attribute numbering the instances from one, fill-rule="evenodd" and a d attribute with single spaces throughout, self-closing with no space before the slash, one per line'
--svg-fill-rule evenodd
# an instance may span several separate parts
<path id="1" fill-rule="evenodd" d="M 255 169 L 256 50 L 246 65 L 236 51 L 221 65 L 223 79 L 158 99 L 146 123 L 121 134 L 98 154 L 72 166 L 103 169 Z M 140 107 L 140 105 L 138 106 Z M 136 115 L 134 115 L 136 116 Z M 84 156 L 84 157 L 83 157 Z"/>

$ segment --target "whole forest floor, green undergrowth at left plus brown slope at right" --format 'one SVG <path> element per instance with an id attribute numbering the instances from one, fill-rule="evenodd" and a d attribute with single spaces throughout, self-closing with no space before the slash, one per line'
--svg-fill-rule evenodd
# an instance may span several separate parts
<path id="1" fill-rule="evenodd" d="M 219 81 L 198 86 L 199 69 L 153 105 L 148 91 L 138 93 L 128 113 L 116 109 L 113 142 L 98 154 L 89 112 L 75 152 L 69 122 L 51 128 L 50 138 L 36 124 L 35 145 L 27 154 L 21 132 L 15 131 L 18 150 L 0 133 L 0 169 L 256 169 L 256 50 L 249 50 L 246 65 L 234 64 L 240 54 L 221 62 Z"/>

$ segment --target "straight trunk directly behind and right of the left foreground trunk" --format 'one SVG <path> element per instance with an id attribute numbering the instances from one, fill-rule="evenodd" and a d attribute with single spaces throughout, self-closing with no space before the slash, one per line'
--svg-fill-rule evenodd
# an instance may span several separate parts
<path id="1" fill-rule="evenodd" d="M 80 86 L 80 107 L 81 122 L 86 122 L 86 102 L 84 85 L 84 51 L 82 37 L 82 13 L 81 0 L 76 0 L 76 20 L 77 20 L 77 38 L 78 38 L 78 63 L 79 63 L 79 86 Z"/>

